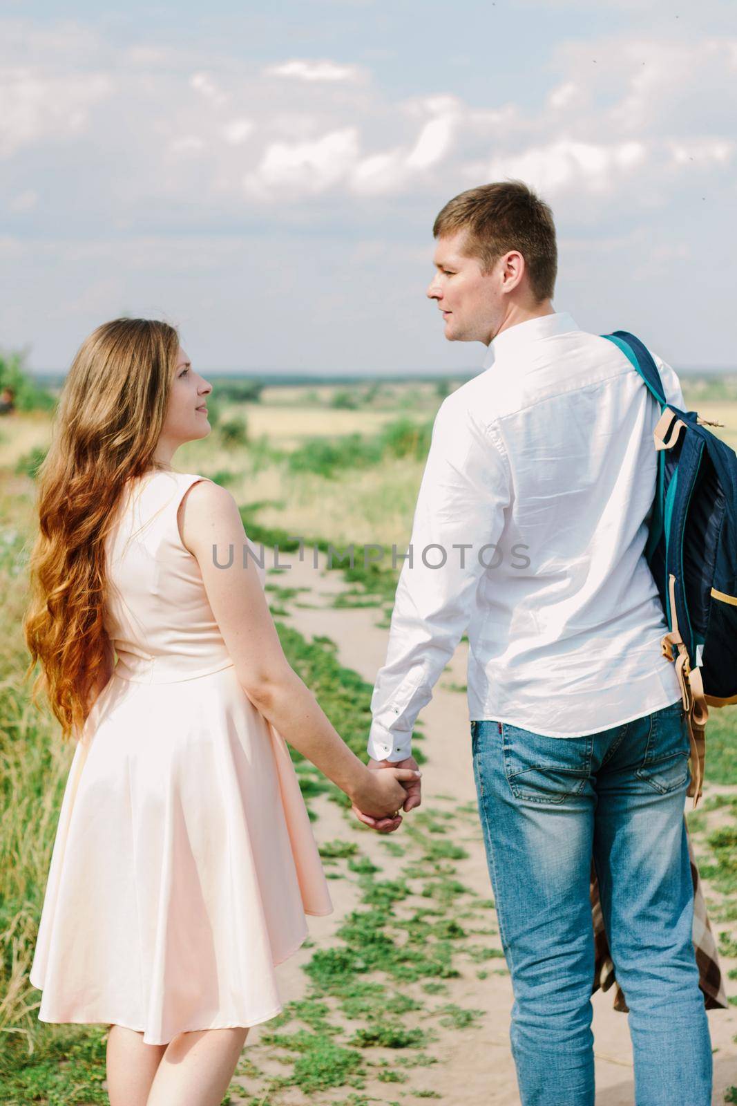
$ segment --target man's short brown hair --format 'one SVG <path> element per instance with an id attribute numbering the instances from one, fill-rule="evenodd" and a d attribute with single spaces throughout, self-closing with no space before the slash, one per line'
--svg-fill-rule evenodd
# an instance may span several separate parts
<path id="1" fill-rule="evenodd" d="M 524 180 L 498 180 L 454 196 L 432 232 L 443 238 L 459 230 L 466 231 L 463 252 L 478 258 L 482 272 L 491 272 L 508 250 L 519 250 L 536 301 L 552 299 L 558 272 L 552 211 Z"/>

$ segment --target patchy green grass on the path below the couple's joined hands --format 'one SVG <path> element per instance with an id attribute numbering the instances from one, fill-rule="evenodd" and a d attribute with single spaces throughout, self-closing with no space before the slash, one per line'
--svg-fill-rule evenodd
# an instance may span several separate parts
<path id="1" fill-rule="evenodd" d="M 428 857 L 425 864 L 443 881 L 449 877 L 438 869 L 446 862 L 432 858 L 433 843 L 430 833 L 419 827 L 410 852 Z M 369 1055 L 375 1050 L 394 1054 L 393 1062 L 382 1056 L 378 1082 L 404 1083 L 407 1075 L 400 1067 L 406 1066 L 401 1061 L 408 1051 L 418 1053 L 417 1063 L 432 1061 L 425 1051 L 436 1031 L 429 1018 L 461 1032 L 481 1015 L 454 1003 L 428 1004 L 429 995 L 444 992 L 441 980 L 459 974 L 454 961 L 466 953 L 462 927 L 442 908 L 406 908 L 420 888 L 409 878 L 390 880 L 362 870 L 365 858 L 360 853 L 357 857 L 352 844 L 329 842 L 324 852 L 346 865 L 346 875 L 359 890 L 359 906 L 343 920 L 337 940 L 317 950 L 305 966 L 306 997 L 289 1003 L 262 1039 L 270 1055 L 292 1065 L 288 1076 L 263 1082 L 262 1092 L 270 1103 L 278 1103 L 280 1091 L 288 1086 L 308 1095 L 343 1086 L 360 1091 L 371 1076 Z M 351 875 L 356 867 L 361 870 Z M 459 886 L 457 894 L 471 893 Z M 346 1031 L 343 1019 L 361 1024 Z"/>

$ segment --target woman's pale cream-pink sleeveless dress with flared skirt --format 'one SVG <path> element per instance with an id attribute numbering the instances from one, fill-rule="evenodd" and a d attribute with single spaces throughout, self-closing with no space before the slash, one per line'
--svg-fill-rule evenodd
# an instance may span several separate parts
<path id="1" fill-rule="evenodd" d="M 333 909 L 287 747 L 239 684 L 179 535 L 202 479 L 147 473 L 117 504 L 118 661 L 75 748 L 30 972 L 40 1021 L 117 1023 L 147 1044 L 273 1018 L 274 966 L 306 914 Z M 244 571 L 263 586 L 253 557 Z"/>

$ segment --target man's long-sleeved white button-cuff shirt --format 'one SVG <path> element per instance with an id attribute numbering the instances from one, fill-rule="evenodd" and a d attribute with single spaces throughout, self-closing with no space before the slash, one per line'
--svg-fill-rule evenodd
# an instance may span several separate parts
<path id="1" fill-rule="evenodd" d="M 676 374 L 653 357 L 685 409 Z M 417 716 L 466 632 L 472 720 L 569 738 L 681 697 L 644 559 L 660 414 L 624 354 L 566 312 L 494 338 L 484 372 L 435 417 L 371 697 L 371 757 L 411 754 Z"/>

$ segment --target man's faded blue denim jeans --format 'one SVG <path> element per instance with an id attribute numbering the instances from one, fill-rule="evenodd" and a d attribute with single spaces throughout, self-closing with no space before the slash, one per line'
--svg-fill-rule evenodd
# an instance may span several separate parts
<path id="1" fill-rule="evenodd" d="M 681 701 L 587 737 L 471 723 L 523 1106 L 593 1106 L 593 855 L 630 1008 L 636 1106 L 709 1106 L 712 1045 L 693 946 Z"/>

